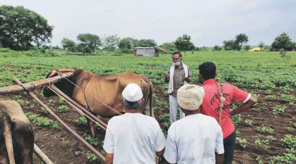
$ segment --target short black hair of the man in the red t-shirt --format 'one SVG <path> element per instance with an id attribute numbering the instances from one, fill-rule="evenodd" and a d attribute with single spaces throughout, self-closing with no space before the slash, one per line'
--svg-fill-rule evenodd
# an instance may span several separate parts
<path id="1" fill-rule="evenodd" d="M 205 62 L 198 66 L 200 74 L 205 80 L 215 78 L 216 65 L 212 62 Z"/>

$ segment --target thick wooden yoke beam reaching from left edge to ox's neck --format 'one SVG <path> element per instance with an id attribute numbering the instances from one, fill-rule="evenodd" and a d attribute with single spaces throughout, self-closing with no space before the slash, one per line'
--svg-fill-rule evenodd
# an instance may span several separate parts
<path id="1" fill-rule="evenodd" d="M 51 79 L 55 83 L 55 82 L 65 80 L 64 77 L 69 78 L 72 74 L 73 74 L 72 72 L 64 73 L 64 74 L 62 74 L 62 76 L 55 76 L 55 77 L 52 77 Z M 49 78 L 47 78 L 47 79 L 48 79 L 48 81 L 52 82 L 51 79 L 49 79 Z M 35 86 L 35 88 L 41 88 L 41 87 L 44 87 L 44 86 L 48 85 L 48 81 L 45 80 L 45 79 L 42 79 L 42 80 L 30 82 L 30 83 L 24 83 L 23 86 L 25 87 L 25 89 L 27 91 L 31 91 L 34 88 L 34 86 Z M 22 91 L 25 91 L 25 90 L 24 90 L 24 88 L 22 88 L 19 85 L 1 87 L 0 88 L 0 95 L 17 93 L 17 92 L 22 92 Z"/>

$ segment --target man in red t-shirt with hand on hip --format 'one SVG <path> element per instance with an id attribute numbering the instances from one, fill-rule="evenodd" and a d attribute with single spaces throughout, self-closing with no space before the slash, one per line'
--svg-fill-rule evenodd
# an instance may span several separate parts
<path id="1" fill-rule="evenodd" d="M 221 128 L 223 132 L 224 164 L 231 164 L 236 142 L 234 125 L 231 116 L 241 113 L 254 105 L 257 100 L 247 92 L 231 84 L 220 84 L 214 80 L 217 76 L 216 65 L 205 62 L 199 65 L 199 78 L 205 89 L 205 97 L 199 110 L 202 114 L 212 116 L 219 122 L 221 94 L 225 98 L 222 107 Z M 219 88 L 218 88 L 219 87 Z M 222 87 L 222 89 L 221 89 Z M 230 111 L 231 102 L 242 102 L 236 109 Z"/>

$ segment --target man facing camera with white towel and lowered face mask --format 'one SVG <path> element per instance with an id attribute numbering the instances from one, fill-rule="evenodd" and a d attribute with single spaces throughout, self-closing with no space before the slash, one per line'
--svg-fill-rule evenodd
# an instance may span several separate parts
<path id="1" fill-rule="evenodd" d="M 177 120 L 177 91 L 178 89 L 189 83 L 192 80 L 189 67 L 182 62 L 182 54 L 180 52 L 174 52 L 172 54 L 173 65 L 168 68 L 165 73 L 165 82 L 169 83 L 168 93 L 170 100 L 170 123 Z M 185 114 L 180 110 L 180 119 L 184 118 Z"/>

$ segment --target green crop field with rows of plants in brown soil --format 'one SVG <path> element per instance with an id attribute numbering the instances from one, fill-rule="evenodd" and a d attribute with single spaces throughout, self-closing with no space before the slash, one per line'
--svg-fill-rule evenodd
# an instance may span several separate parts
<path id="1" fill-rule="evenodd" d="M 94 56 L 79 56 L 83 54 L 73 55 L 73 53 L 57 51 L 55 53 L 48 52 L 55 54 L 56 57 L 45 57 L 51 55 L 33 54 L 30 56 L 31 53 L 26 53 L 14 53 L 13 56 L 16 57 L 9 57 L 9 52 L 0 53 L 0 87 L 13 85 L 14 76 L 23 83 L 43 79 L 52 69 L 83 68 L 100 75 L 132 71 L 146 76 L 154 84 L 155 118 L 166 134 L 170 122 L 168 84 L 164 82 L 164 75 L 168 67 L 172 65 L 171 55 L 134 57 L 131 54 L 102 52 L 96 53 Z M 232 117 L 237 129 L 237 145 L 234 157 L 236 163 L 296 162 L 296 52 L 287 52 L 287 55 L 291 55 L 290 60 L 281 58 L 278 52 L 195 51 L 193 54 L 187 52 L 186 57 L 183 56 L 183 62 L 189 65 L 191 69 L 193 84 L 201 85 L 197 76 L 198 65 L 205 61 L 212 61 L 217 66 L 219 82 L 238 86 L 258 99 L 258 103 L 252 109 Z M 18 100 L 27 113 L 27 117 L 35 118 L 36 115 L 34 114 L 47 117 L 40 110 L 33 111 L 34 114 L 28 113 L 28 111 L 35 109 L 28 107 L 32 106 L 33 103 L 24 98 L 25 94 L 20 94 L 20 96 L 6 95 L 0 96 L 0 99 Z M 78 114 L 67 114 L 71 111 L 68 111 L 65 105 L 58 106 L 57 104 L 61 102 L 58 98 L 44 99 L 44 101 L 52 104 L 52 106 L 59 107 L 57 110 L 59 110 L 62 118 L 76 119 L 76 122 L 73 121 L 69 124 L 83 131 L 83 133 L 89 134 L 89 131 L 86 130 L 88 128 L 85 120 Z M 232 104 L 231 109 L 234 109 L 237 105 L 239 104 Z M 54 124 L 50 120 L 45 121 L 51 124 L 51 127 L 47 129 L 47 131 L 50 131 Z M 38 140 L 45 140 L 43 135 L 45 130 L 41 130 L 40 124 L 34 124 Z M 60 136 L 62 132 L 59 131 L 61 130 L 55 130 L 52 135 L 58 134 Z M 59 141 L 51 138 L 46 139 L 51 144 Z M 91 139 L 91 142 L 95 142 L 96 148 L 103 151 L 98 144 L 103 140 L 104 132 L 97 138 Z M 62 147 L 68 145 L 75 147 L 74 141 L 70 137 L 67 140 L 63 138 L 60 142 Z M 44 147 L 50 147 L 46 143 L 40 142 L 40 144 Z M 57 143 L 56 147 L 61 147 L 59 144 Z M 45 152 L 53 156 L 55 153 L 50 150 L 45 150 Z M 61 155 L 64 153 L 64 156 L 67 156 L 67 152 L 57 152 Z M 92 154 L 84 156 L 85 159 L 82 160 L 82 163 L 87 161 L 86 158 L 93 157 Z M 69 158 L 69 162 L 70 160 Z"/>

